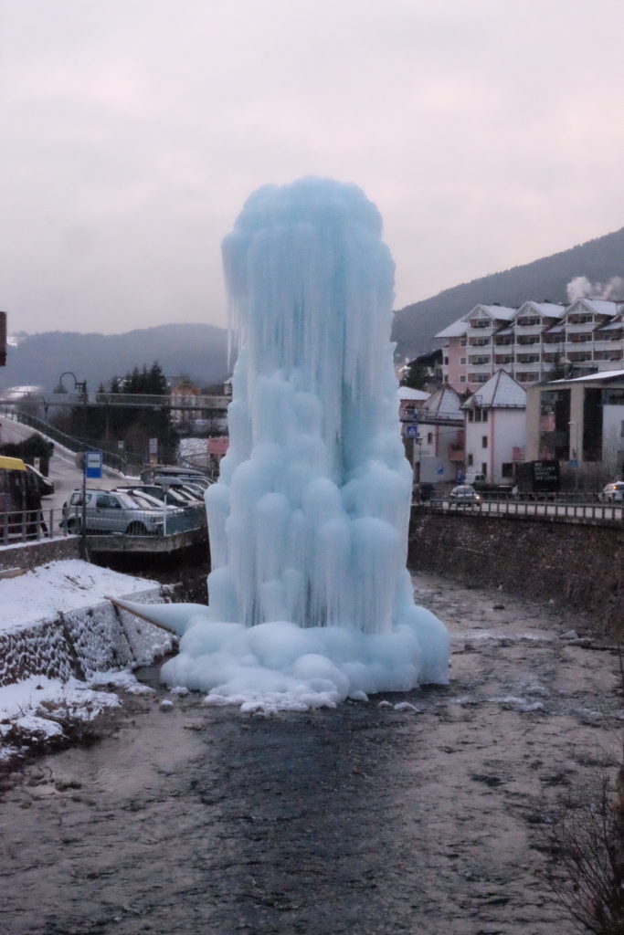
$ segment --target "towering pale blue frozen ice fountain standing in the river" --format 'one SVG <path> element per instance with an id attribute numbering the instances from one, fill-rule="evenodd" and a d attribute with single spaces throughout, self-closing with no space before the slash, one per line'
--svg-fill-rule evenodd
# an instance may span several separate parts
<path id="1" fill-rule="evenodd" d="M 447 631 L 406 569 L 412 471 L 379 211 L 333 180 L 265 186 L 223 256 L 239 353 L 206 495 L 209 607 L 151 609 L 182 634 L 164 680 L 265 711 L 446 683 Z"/>

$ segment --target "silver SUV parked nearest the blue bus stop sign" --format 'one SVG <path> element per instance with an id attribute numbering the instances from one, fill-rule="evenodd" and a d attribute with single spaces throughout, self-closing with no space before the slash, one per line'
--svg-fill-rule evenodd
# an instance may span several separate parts
<path id="1" fill-rule="evenodd" d="M 82 491 L 75 490 L 65 501 L 61 528 L 78 533 L 82 527 Z M 84 501 L 87 532 L 123 533 L 126 536 L 157 536 L 163 532 L 163 510 L 143 510 L 131 496 L 114 490 L 87 490 Z"/>

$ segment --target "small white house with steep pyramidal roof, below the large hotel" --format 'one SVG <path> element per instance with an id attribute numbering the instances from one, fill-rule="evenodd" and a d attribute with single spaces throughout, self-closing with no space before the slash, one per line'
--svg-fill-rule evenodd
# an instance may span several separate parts
<path id="1" fill-rule="evenodd" d="M 527 394 L 505 370 L 497 370 L 461 406 L 464 414 L 465 471 L 491 483 L 513 482 L 524 460 Z"/>

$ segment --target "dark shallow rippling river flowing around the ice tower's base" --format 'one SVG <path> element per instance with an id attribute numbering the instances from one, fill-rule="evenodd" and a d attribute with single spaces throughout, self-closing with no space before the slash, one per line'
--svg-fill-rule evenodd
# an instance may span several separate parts
<path id="1" fill-rule="evenodd" d="M 529 602 L 418 585 L 453 632 L 448 688 L 265 717 L 139 672 L 156 691 L 109 736 L 0 800 L 0 931 L 569 935 L 539 818 L 617 766 L 617 657 Z"/>

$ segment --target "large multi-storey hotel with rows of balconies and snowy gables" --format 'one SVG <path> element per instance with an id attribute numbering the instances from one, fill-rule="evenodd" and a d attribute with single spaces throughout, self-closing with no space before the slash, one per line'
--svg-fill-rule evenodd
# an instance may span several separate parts
<path id="1" fill-rule="evenodd" d="M 522 386 L 548 380 L 558 363 L 582 377 L 623 366 L 624 303 L 477 305 L 435 337 L 445 341 L 443 380 L 459 392 L 473 393 L 501 369 Z"/>

